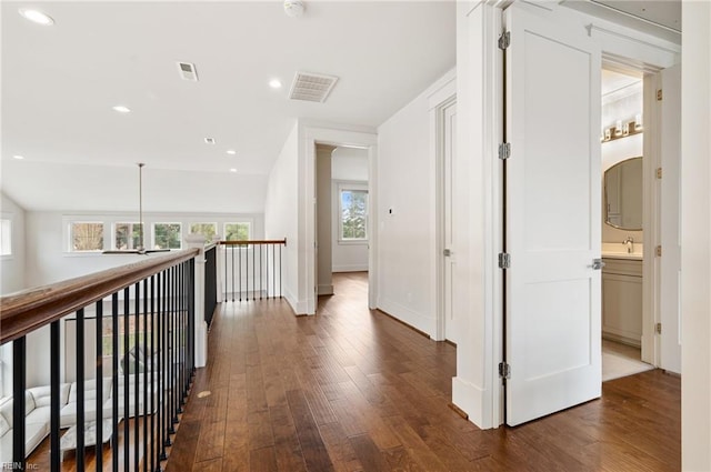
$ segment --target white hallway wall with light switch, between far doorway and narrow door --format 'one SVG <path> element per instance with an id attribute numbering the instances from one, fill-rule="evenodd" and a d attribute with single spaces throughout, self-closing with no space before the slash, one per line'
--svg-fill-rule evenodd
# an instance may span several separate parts
<path id="1" fill-rule="evenodd" d="M 427 91 L 378 128 L 378 308 L 434 335 L 435 157 Z"/>

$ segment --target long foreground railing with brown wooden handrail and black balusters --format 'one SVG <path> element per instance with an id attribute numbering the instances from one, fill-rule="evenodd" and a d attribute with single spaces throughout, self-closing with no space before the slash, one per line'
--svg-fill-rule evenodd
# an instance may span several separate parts
<path id="1" fill-rule="evenodd" d="M 51 285 L 30 289 L 0 298 L 0 344 L 12 342 L 12 458 L 13 470 L 27 470 L 26 458 L 26 386 L 27 386 L 27 339 L 37 330 L 50 325 L 50 456 L 49 466 L 59 472 L 62 463 L 60 451 L 60 373 L 61 340 L 60 321 L 76 313 L 77 333 L 77 428 L 74 470 L 84 466 L 86 434 L 90 426 L 87 405 L 94 409 L 96 443 L 111 441 L 111 470 L 160 471 L 167 460 L 167 448 L 172 444 L 179 414 L 182 412 L 187 394 L 194 374 L 194 258 L 199 249 L 188 249 L 161 255 L 150 255 L 146 260 L 116 269 L 97 272 Z M 121 303 L 120 303 L 121 302 Z M 122 309 L 120 307 L 122 305 Z M 104 318 L 103 312 L 110 312 Z M 96 327 L 96 404 L 84 401 L 87 386 L 84 379 L 84 350 L 90 348 L 84 339 L 86 312 L 92 312 Z M 74 321 L 74 320 L 71 320 Z M 119 333 L 122 321 L 123 333 Z M 129 340 L 132 321 L 136 331 Z M 103 348 L 106 323 L 110 322 L 111 376 L 104 376 Z M 143 335 L 141 337 L 140 330 Z M 122 338 L 122 343 L 119 341 Z M 123 348 L 123 359 L 119 372 L 119 351 Z M 133 356 L 128 355 L 133 350 Z M 141 355 L 138 352 L 142 351 Z M 92 372 L 88 372 L 91 374 Z M 119 378 L 123 384 L 120 385 Z M 97 381 L 104 379 L 104 381 Z M 111 405 L 104 402 L 103 384 L 110 379 Z M 64 375 L 64 382 L 68 382 Z M 132 383 L 131 383 L 132 382 Z M 132 385 L 129 388 L 129 385 Z M 142 391 L 141 391 L 142 385 Z M 119 396 L 123 394 L 122 402 Z M 131 405 L 130 400 L 133 400 Z M 110 410 L 107 410 L 109 409 Z M 101 414 L 99 414 L 101 412 Z M 143 421 L 139 422 L 139 416 Z M 133 431 L 129 428 L 133 418 Z M 111 423 L 110 433 L 103 433 L 103 422 Z M 123 421 L 122 438 L 119 441 L 119 423 Z M 139 429 L 142 423 L 142 432 Z M 108 425 L 108 424 L 107 424 Z M 67 433 L 64 433 L 67 434 Z M 132 442 L 132 444 L 131 444 Z M 61 449 L 64 449 L 62 445 Z M 72 449 L 74 446 L 72 445 Z M 122 461 L 119 455 L 122 453 Z M 96 470 L 103 470 L 100 445 L 97 446 Z M 10 458 L 2 458 L 9 462 Z"/>

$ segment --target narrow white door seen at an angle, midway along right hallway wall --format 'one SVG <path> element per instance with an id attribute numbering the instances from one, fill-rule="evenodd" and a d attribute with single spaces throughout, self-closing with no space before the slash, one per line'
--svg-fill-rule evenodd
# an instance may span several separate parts
<path id="1" fill-rule="evenodd" d="M 465 290 L 463 287 L 457 287 L 458 281 L 461 284 L 463 281 L 462 277 L 458 277 L 457 273 L 457 258 L 459 255 L 459 250 L 461 248 L 458 244 L 457 239 L 461 238 L 464 233 L 455 227 L 455 218 L 454 215 L 459 214 L 455 211 L 455 205 L 458 203 L 457 199 L 453 197 L 457 193 L 457 168 L 455 168 L 455 143 L 457 143 L 457 104 L 452 103 L 444 108 L 442 111 L 442 138 L 443 138 L 443 147 L 442 147 L 442 204 L 443 204 L 443 264 L 444 264 L 444 277 L 443 277 L 443 309 L 444 309 L 444 339 L 452 341 L 453 343 L 459 342 L 459 333 L 461 329 L 458 327 L 459 317 L 463 313 L 463 307 L 458 303 L 457 297 L 463 294 L 462 290 Z M 459 313 L 459 317 L 458 317 Z"/>

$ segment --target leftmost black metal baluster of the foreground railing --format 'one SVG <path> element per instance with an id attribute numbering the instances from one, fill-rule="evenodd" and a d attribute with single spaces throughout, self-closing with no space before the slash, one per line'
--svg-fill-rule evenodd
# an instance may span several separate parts
<path id="1" fill-rule="evenodd" d="M 12 463 L 16 470 L 27 469 L 24 460 L 24 390 L 27 388 L 27 339 L 12 342 Z"/>

